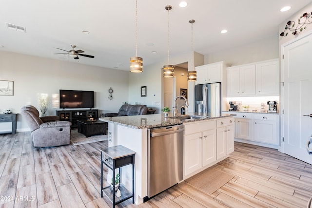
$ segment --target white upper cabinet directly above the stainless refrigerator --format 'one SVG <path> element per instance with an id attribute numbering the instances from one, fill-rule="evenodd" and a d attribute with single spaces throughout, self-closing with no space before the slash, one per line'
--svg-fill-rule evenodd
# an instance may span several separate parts
<path id="1" fill-rule="evenodd" d="M 222 82 L 223 69 L 225 69 L 223 61 L 195 67 L 196 84 Z"/>

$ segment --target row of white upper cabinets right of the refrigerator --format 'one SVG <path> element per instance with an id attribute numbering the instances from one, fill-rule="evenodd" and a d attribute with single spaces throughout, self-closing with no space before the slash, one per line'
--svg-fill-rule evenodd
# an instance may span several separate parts
<path id="1" fill-rule="evenodd" d="M 227 96 L 279 95 L 278 59 L 227 68 Z"/>

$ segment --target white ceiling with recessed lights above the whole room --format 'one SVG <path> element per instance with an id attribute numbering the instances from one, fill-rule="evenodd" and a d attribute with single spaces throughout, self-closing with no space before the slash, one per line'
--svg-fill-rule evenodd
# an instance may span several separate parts
<path id="1" fill-rule="evenodd" d="M 137 0 L 137 56 L 144 66 L 191 51 L 206 55 L 258 39 L 279 35 L 278 25 L 311 0 Z M 1 0 L 0 51 L 129 70 L 136 56 L 135 0 Z M 291 10 L 280 12 L 286 6 Z M 6 23 L 25 27 L 26 33 L 8 29 Z M 286 22 L 285 22 L 286 23 Z M 227 29 L 228 33 L 220 31 Z M 82 33 L 83 30 L 89 34 Z M 56 48 L 76 50 L 95 58 L 74 59 Z M 156 53 L 152 53 L 152 52 Z M 66 53 L 66 52 L 64 52 Z"/>

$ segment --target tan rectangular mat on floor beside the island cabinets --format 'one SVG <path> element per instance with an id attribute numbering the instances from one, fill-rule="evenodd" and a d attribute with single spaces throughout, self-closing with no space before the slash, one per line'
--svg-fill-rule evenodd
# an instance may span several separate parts
<path id="1" fill-rule="evenodd" d="M 185 182 L 212 194 L 232 178 L 234 178 L 234 176 L 226 172 L 214 168 L 208 168 L 186 179 Z"/>

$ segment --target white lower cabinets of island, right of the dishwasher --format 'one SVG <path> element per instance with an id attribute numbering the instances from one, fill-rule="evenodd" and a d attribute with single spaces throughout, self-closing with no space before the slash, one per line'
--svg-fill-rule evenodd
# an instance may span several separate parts
<path id="1" fill-rule="evenodd" d="M 233 117 L 184 123 L 185 176 L 234 151 L 233 124 Z"/>

